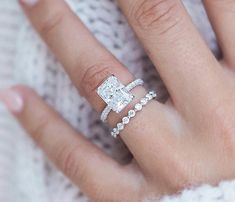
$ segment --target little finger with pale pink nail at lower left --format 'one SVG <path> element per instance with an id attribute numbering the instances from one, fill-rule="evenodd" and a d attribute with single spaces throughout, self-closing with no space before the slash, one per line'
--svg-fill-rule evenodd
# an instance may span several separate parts
<path id="1" fill-rule="evenodd" d="M 135 196 L 140 183 L 135 178 L 137 170 L 120 166 L 77 134 L 33 91 L 18 86 L 2 91 L 0 100 L 50 159 L 89 197 L 95 201 L 123 197 L 121 201 L 125 201 L 131 197 L 129 193 Z"/>

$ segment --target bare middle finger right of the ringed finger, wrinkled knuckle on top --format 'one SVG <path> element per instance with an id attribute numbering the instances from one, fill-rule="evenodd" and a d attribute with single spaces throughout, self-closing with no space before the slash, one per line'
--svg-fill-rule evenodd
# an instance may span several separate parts
<path id="1" fill-rule="evenodd" d="M 190 115 L 214 92 L 220 66 L 180 0 L 119 0 L 164 80 L 174 105 Z M 187 106 L 185 106 L 187 103 Z M 188 110 L 190 107 L 190 110 Z M 192 113 L 191 113 L 192 114 Z"/>

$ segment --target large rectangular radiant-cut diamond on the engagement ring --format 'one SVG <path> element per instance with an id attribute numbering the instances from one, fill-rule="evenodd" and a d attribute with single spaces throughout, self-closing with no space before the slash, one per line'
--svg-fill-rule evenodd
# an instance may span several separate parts
<path id="1" fill-rule="evenodd" d="M 116 113 L 121 112 L 134 99 L 115 76 L 105 80 L 97 89 L 97 93 Z"/>

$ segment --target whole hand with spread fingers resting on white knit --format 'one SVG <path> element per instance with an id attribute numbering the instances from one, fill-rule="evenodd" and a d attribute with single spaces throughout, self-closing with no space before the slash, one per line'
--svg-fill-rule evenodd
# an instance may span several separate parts
<path id="1" fill-rule="evenodd" d="M 64 0 L 20 2 L 95 110 L 105 106 L 96 88 L 109 75 L 124 84 L 133 80 Z M 235 1 L 204 3 L 222 61 L 212 55 L 179 0 L 119 0 L 171 96 L 165 105 L 151 101 L 122 131 L 134 156 L 129 165 L 105 155 L 32 90 L 17 86 L 0 93 L 51 160 L 94 201 L 142 201 L 235 177 Z M 137 101 L 146 92 L 138 87 L 133 93 Z M 126 112 L 112 113 L 109 124 Z"/>

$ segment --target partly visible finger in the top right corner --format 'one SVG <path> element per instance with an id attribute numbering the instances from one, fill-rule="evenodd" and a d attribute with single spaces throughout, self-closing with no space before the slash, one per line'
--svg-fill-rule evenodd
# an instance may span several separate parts
<path id="1" fill-rule="evenodd" d="M 224 60 L 229 67 L 235 68 L 235 1 L 204 0 L 204 4 L 222 48 Z"/>

